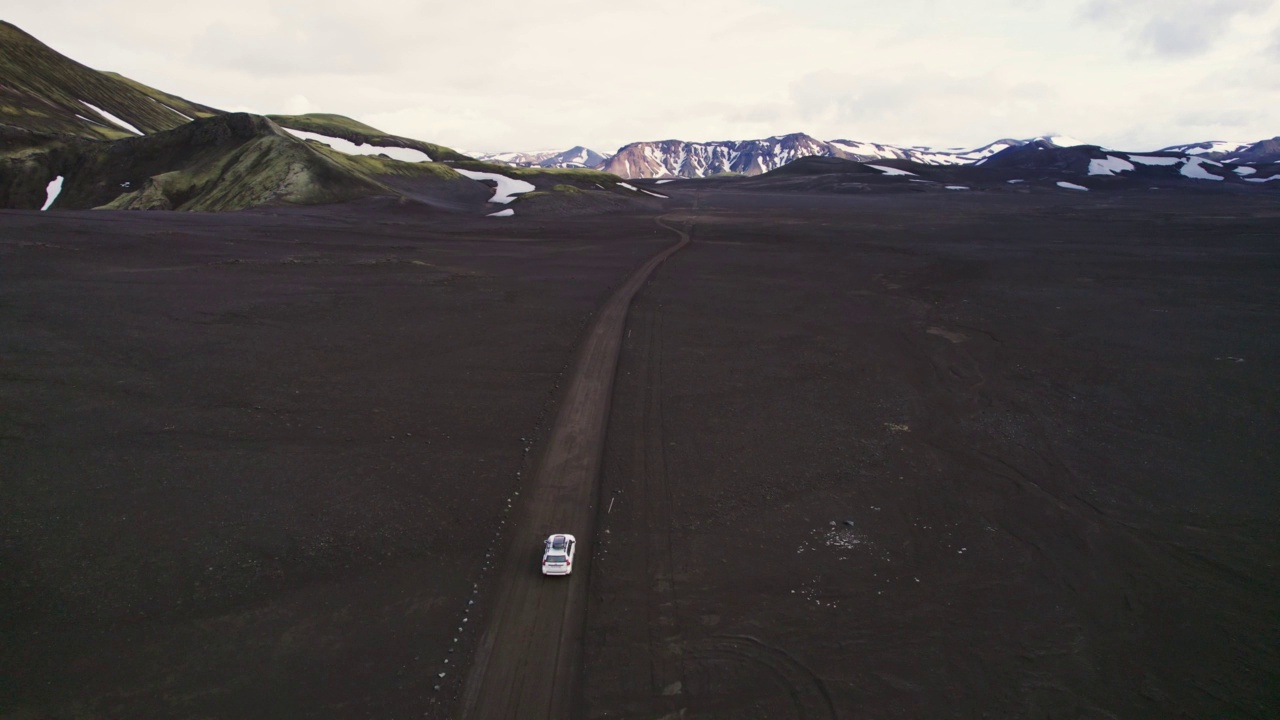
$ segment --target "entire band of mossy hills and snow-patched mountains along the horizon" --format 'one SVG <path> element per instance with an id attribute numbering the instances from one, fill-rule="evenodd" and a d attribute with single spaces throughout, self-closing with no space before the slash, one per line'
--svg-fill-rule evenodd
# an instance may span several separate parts
<path id="1" fill-rule="evenodd" d="M 0 20 L 0 208 L 218 211 L 389 197 L 511 215 L 660 204 L 658 183 L 716 177 L 822 192 L 1280 190 L 1271 182 L 1280 181 L 1280 137 L 1134 154 L 1066 137 L 934 150 L 792 133 L 474 159 L 342 115 L 225 113 L 87 68 Z"/>

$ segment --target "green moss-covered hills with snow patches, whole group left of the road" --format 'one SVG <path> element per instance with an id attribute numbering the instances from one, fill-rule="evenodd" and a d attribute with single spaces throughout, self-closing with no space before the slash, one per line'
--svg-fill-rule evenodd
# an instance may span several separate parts
<path id="1" fill-rule="evenodd" d="M 374 154 L 348 155 L 288 129 Z M 394 160 L 381 147 L 419 150 L 431 161 Z M 593 205 L 622 192 L 605 173 L 489 165 L 342 115 L 224 113 L 87 68 L 0 22 L 0 208 L 42 208 L 60 177 L 52 209 L 219 211 L 383 195 L 492 210 L 490 187 L 454 167 L 526 179 L 536 188 L 530 200 L 543 205 L 547 196 Z"/>

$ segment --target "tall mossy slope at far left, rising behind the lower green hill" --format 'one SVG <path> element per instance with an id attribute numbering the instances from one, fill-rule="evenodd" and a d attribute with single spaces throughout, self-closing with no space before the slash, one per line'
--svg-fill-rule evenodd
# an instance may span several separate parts
<path id="1" fill-rule="evenodd" d="M 0 83 L 0 123 L 4 124 L 92 140 L 133 137 L 100 118 L 82 100 L 147 133 L 186 123 L 136 83 L 87 68 L 5 22 L 0 22 L 0 77 L 5 78 Z M 182 104 L 196 108 L 187 101 Z"/>

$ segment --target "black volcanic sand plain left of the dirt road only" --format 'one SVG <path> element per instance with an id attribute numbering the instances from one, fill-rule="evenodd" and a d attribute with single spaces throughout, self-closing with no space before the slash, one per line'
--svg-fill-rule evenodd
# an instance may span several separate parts
<path id="1" fill-rule="evenodd" d="M 0 716 L 444 716 L 596 229 L 0 213 Z"/>

